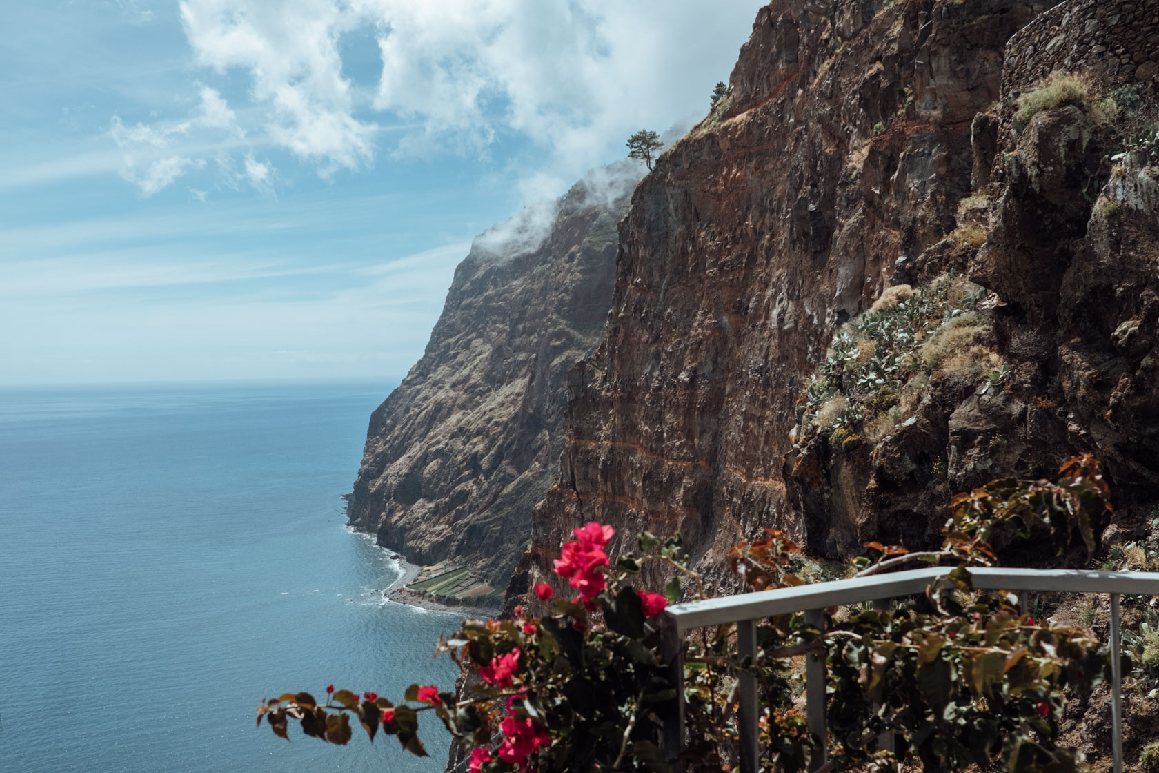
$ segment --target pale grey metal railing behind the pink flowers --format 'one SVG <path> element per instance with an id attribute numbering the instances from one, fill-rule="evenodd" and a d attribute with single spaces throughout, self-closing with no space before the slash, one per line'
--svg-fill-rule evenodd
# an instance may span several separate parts
<path id="1" fill-rule="evenodd" d="M 664 614 L 663 657 L 669 676 L 676 685 L 677 700 L 664 723 L 664 749 L 672 770 L 683 771 L 679 753 L 684 750 L 684 635 L 694 629 L 723 623 L 737 623 L 737 652 L 757 655 L 757 622 L 777 614 L 804 612 L 806 621 L 817 628 L 824 626 L 825 610 L 831 606 L 884 601 L 899 596 L 924 593 L 930 583 L 949 574 L 953 567 L 931 567 L 887 575 L 838 579 L 796 588 L 724 596 L 690 601 L 669 607 Z M 1022 611 L 1027 610 L 1029 592 L 1109 593 L 1110 595 L 1110 651 L 1111 651 L 1111 749 L 1115 773 L 1123 771 L 1123 706 L 1120 639 L 1118 597 L 1127 595 L 1159 596 L 1159 573 L 1144 571 L 1084 571 L 1072 569 L 970 569 L 977 590 L 1018 592 Z M 812 760 L 812 770 L 825 764 L 828 734 L 825 730 L 825 661 L 809 655 L 806 658 L 806 713 L 809 731 L 821 741 L 822 753 Z M 757 680 L 741 672 L 737 679 L 739 712 L 741 773 L 757 773 L 759 765 L 759 730 L 757 720 L 760 707 Z M 890 741 L 892 738 L 890 737 Z"/>

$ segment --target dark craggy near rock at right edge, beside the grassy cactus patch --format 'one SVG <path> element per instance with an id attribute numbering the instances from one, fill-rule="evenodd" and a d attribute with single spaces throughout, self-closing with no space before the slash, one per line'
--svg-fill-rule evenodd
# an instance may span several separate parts
<path id="1" fill-rule="evenodd" d="M 850 555 L 870 539 L 935 545 L 954 493 L 998 476 L 1052 477 L 1078 452 L 1105 462 L 1117 527 L 1144 534 L 1143 516 L 1159 501 L 1159 168 L 1136 153 L 1109 169 L 1121 129 L 1099 125 L 1091 105 L 1045 109 L 1025 125 L 1014 112 L 1042 78 L 1080 67 L 1100 95 L 1132 88 L 1153 121 L 1153 73 L 1127 63 L 1152 56 L 1156 29 L 1157 3 L 1069 0 L 1007 43 L 1001 94 L 972 119 L 971 192 L 989 202 L 984 243 L 939 242 L 895 275 L 927 282 L 964 271 L 996 293 L 1000 384 L 935 375 L 875 446 L 837 453 L 815 438 L 790 452 L 790 504 L 811 549 Z"/>

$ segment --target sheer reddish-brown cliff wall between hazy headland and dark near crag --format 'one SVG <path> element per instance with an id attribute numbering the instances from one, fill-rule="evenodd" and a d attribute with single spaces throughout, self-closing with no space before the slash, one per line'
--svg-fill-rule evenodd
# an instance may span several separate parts
<path id="1" fill-rule="evenodd" d="M 971 122 L 999 96 L 1007 39 L 1050 3 L 885 5 L 763 8 L 722 119 L 636 189 L 520 582 L 549 578 L 589 519 L 680 531 L 706 567 L 758 527 L 804 535 L 782 471 L 802 379 L 899 261 L 954 228 Z"/>

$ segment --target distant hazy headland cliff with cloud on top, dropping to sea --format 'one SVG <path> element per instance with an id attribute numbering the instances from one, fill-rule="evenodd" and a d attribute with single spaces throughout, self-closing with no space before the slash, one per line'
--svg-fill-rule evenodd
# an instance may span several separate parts
<path id="1" fill-rule="evenodd" d="M 634 163 L 597 170 L 551 212 L 475 241 L 422 359 L 371 416 L 355 527 L 502 591 L 557 476 L 564 380 L 607 318 L 615 228 L 637 178 Z"/>

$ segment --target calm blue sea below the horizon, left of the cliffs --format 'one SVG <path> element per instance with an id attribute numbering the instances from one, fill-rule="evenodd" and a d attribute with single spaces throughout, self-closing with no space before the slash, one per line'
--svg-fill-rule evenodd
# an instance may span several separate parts
<path id="1" fill-rule="evenodd" d="M 388 386 L 0 389 L 0 771 L 442 771 L 431 714 L 424 760 L 254 722 L 453 684 L 459 617 L 384 601 L 396 566 L 344 526 Z"/>

